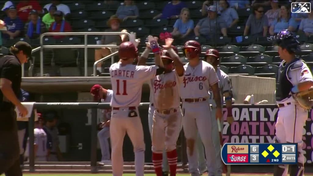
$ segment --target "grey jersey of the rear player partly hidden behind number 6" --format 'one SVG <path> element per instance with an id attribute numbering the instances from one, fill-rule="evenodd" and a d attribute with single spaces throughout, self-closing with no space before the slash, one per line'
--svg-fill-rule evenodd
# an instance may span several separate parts
<path id="1" fill-rule="evenodd" d="M 217 77 L 218 77 L 218 80 L 219 80 L 218 81 L 218 88 L 219 88 L 220 95 L 221 95 L 221 104 L 223 106 L 223 103 L 224 103 L 223 94 L 226 91 L 231 91 L 232 90 L 232 85 L 231 85 L 231 81 L 230 81 L 229 76 L 225 72 L 223 72 L 223 70 L 218 68 L 216 70 L 216 74 L 217 74 Z M 216 103 L 214 101 L 214 96 L 213 96 L 213 93 L 212 93 L 211 89 L 210 89 L 209 93 L 210 93 L 209 103 L 213 107 L 216 107 Z"/>

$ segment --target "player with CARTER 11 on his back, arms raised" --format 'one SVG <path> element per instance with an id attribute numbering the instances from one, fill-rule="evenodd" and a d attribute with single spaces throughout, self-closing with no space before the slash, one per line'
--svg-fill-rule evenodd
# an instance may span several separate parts
<path id="1" fill-rule="evenodd" d="M 157 43 L 153 43 L 152 51 L 156 57 L 160 57 Z M 142 85 L 156 75 L 163 74 L 165 68 L 133 65 L 132 63 L 135 59 L 138 59 L 138 56 L 137 48 L 132 42 L 120 44 L 118 54 L 119 62 L 110 66 L 110 79 L 113 90 L 110 103 L 112 107 L 110 137 L 113 176 L 122 176 L 123 174 L 122 148 L 126 133 L 134 147 L 136 176 L 143 176 L 145 142 L 138 112 Z"/>

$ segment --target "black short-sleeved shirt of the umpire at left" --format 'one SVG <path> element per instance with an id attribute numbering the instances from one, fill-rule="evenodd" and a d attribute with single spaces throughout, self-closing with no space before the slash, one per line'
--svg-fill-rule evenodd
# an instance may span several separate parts
<path id="1" fill-rule="evenodd" d="M 14 55 L 6 55 L 0 58 L 0 77 L 8 79 L 12 82 L 12 89 L 16 97 L 19 96 L 21 81 L 22 81 L 22 66 L 21 62 Z M 11 103 L 2 91 L 0 91 L 0 112 L 14 109 Z M 0 123 L 1 123 L 0 118 Z"/>

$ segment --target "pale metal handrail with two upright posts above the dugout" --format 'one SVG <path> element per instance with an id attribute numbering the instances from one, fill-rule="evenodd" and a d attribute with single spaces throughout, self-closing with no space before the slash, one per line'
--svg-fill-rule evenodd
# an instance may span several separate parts
<path id="1" fill-rule="evenodd" d="M 130 34 L 128 32 L 65 32 L 65 33 L 57 33 L 57 32 L 49 32 L 41 34 L 40 36 L 40 76 L 44 75 L 44 48 L 84 48 L 85 49 L 85 76 L 88 75 L 87 73 L 87 48 L 100 48 L 100 47 L 110 47 L 110 48 L 117 48 L 117 45 L 88 45 L 87 44 L 87 36 L 88 35 L 127 35 L 128 37 Z M 43 39 L 44 36 L 51 36 L 51 35 L 84 35 L 84 45 L 44 45 Z"/>

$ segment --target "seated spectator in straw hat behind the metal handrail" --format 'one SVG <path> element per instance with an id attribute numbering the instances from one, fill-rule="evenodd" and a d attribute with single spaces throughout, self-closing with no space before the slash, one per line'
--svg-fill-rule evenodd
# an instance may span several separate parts
<path id="1" fill-rule="evenodd" d="M 112 15 L 107 22 L 107 25 L 110 27 L 106 29 L 104 32 L 127 32 L 126 29 L 120 28 L 121 19 L 118 18 L 116 15 Z M 116 44 L 120 45 L 122 42 L 127 40 L 127 35 L 103 35 L 100 43 L 103 45 L 108 44 Z M 113 52 L 117 51 L 117 48 L 100 48 L 95 49 L 95 61 L 100 60 L 101 58 L 112 54 Z M 101 73 L 101 63 L 97 65 L 97 74 Z"/>

